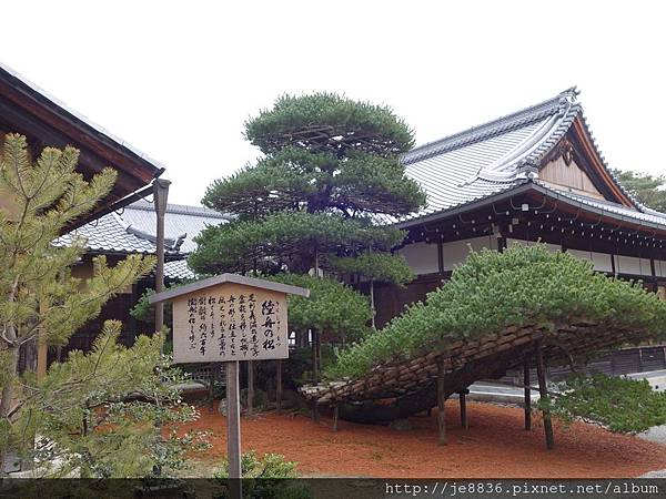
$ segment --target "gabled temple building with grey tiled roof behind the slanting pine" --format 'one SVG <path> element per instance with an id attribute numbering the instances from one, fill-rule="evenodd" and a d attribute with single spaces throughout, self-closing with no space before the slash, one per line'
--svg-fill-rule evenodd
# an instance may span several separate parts
<path id="1" fill-rule="evenodd" d="M 666 214 L 642 205 L 604 161 L 578 92 L 418 146 L 403 156 L 427 206 L 397 221 L 417 278 L 375 285 L 377 326 L 451 277 L 470 247 L 546 243 L 666 296 Z"/>

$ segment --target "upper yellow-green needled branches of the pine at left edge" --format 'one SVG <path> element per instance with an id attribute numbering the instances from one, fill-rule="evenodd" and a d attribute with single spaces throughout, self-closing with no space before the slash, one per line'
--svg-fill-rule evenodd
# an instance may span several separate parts
<path id="1" fill-rule="evenodd" d="M 32 161 L 26 138 L 9 134 L 0 161 L 0 438 L 8 440 L 21 417 L 28 386 L 18 374 L 19 348 L 44 343 L 63 345 L 102 305 L 154 265 L 154 258 L 130 256 L 109 266 L 94 259 L 85 282 L 71 275 L 85 242 L 54 244 L 67 224 L 91 211 L 111 190 L 115 172 L 104 169 L 90 181 L 77 172 L 73 147 L 46 147 Z M 8 451 L 0 448 L 0 458 Z"/>

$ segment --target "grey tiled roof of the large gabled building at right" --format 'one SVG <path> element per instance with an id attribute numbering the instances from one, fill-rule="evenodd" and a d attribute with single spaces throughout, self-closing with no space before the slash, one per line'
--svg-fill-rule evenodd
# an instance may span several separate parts
<path id="1" fill-rule="evenodd" d="M 577 102 L 578 92 L 568 89 L 532 108 L 480 126 L 418 146 L 402 157 L 406 174 L 427 195 L 427 205 L 400 221 L 410 224 L 427 215 L 445 213 L 495 194 L 538 182 L 538 165 L 579 118 L 585 133 L 596 142 Z M 615 183 L 636 208 L 556 191 L 561 195 L 637 221 L 666 223 L 666 215 L 646 208 L 628 193 L 597 153 Z"/>

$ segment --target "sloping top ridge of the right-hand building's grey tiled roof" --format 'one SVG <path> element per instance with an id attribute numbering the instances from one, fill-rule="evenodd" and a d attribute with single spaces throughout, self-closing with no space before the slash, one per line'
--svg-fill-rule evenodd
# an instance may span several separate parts
<path id="1" fill-rule="evenodd" d="M 564 113 L 569 104 L 576 101 L 579 92 L 572 86 L 554 98 L 524 108 L 509 114 L 496 118 L 483 124 L 472 126 L 443 139 L 416 146 L 402 157 L 403 164 L 410 164 L 426 157 L 453 151 L 474 142 L 491 139 L 495 135 L 521 129 L 555 113 Z"/>

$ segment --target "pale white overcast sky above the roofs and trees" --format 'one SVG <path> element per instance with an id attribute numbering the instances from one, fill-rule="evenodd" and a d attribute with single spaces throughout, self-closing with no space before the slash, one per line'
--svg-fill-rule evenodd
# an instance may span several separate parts
<path id="1" fill-rule="evenodd" d="M 199 204 L 282 93 L 384 103 L 417 144 L 578 85 L 613 167 L 666 173 L 664 2 L 4 2 L 2 62 L 167 166 Z"/>

